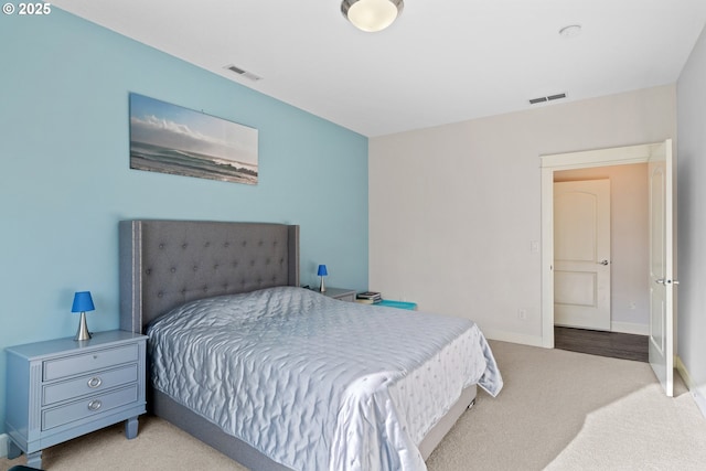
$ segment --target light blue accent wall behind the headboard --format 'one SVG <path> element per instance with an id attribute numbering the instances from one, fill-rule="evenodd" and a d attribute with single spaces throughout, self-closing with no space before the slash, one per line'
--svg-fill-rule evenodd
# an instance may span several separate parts
<path id="1" fill-rule="evenodd" d="M 0 350 L 74 335 L 76 290 L 118 327 L 120 220 L 299 224 L 303 283 L 367 288 L 365 137 L 56 8 L 0 17 Z M 130 92 L 257 128 L 259 183 L 130 170 Z"/>

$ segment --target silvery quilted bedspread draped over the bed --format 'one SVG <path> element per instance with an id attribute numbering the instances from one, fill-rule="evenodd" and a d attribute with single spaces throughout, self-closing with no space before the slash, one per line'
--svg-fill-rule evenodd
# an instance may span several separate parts
<path id="1" fill-rule="evenodd" d="M 295 470 L 426 470 L 428 430 L 502 388 L 472 322 L 301 288 L 210 298 L 150 325 L 153 386 Z"/>

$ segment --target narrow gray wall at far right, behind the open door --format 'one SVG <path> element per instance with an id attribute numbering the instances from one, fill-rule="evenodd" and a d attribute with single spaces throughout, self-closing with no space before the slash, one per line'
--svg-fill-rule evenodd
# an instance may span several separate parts
<path id="1" fill-rule="evenodd" d="M 677 349 L 706 415 L 706 30 L 677 83 Z"/>

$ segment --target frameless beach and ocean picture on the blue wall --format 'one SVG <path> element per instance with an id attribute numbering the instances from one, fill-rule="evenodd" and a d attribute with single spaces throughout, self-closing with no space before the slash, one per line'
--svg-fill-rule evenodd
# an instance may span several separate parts
<path id="1" fill-rule="evenodd" d="M 257 184 L 257 129 L 130 94 L 130 169 Z"/>

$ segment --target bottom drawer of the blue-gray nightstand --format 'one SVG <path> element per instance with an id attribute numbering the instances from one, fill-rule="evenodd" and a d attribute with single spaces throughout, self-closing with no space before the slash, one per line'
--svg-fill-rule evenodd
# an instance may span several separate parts
<path id="1" fill-rule="evenodd" d="M 130 403 L 137 403 L 137 399 L 138 385 L 135 384 L 124 389 L 87 397 L 66 406 L 45 409 L 42 411 L 42 430 L 49 430 L 85 417 L 103 414 Z"/>

